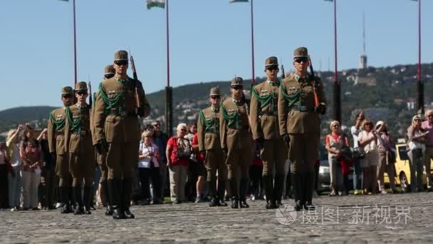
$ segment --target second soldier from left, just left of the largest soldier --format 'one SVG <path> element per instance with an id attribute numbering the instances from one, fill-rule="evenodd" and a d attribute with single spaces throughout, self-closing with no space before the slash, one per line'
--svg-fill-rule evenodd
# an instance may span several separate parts
<path id="1" fill-rule="evenodd" d="M 69 151 L 69 166 L 72 173 L 74 214 L 91 214 L 93 176 L 95 175 L 95 153 L 90 131 L 90 105 L 87 83 L 80 81 L 75 86 L 77 103 L 66 108 L 65 141 Z M 84 180 L 84 195 L 81 185 Z M 84 208 L 83 208 L 84 207 Z"/>

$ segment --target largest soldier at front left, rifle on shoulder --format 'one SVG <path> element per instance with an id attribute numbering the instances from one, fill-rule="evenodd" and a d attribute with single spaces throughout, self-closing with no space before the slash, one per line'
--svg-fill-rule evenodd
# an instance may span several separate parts
<path id="1" fill-rule="evenodd" d="M 135 218 L 129 205 L 140 145 L 138 116 L 149 115 L 150 106 L 142 83 L 127 76 L 127 51 L 115 52 L 113 66 L 115 76 L 100 83 L 95 101 L 96 148 L 100 153 L 107 152 L 113 218 Z M 140 106 L 137 106 L 135 91 Z"/>

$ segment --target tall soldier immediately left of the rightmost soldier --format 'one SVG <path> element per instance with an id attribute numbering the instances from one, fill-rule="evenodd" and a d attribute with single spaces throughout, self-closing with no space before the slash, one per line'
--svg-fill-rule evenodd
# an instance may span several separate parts
<path id="1" fill-rule="evenodd" d="M 251 131 L 254 141 L 261 146 L 266 208 L 277 208 L 281 205 L 283 195 L 287 146 L 280 136 L 278 126 L 280 81 L 278 81 L 278 59 L 276 57 L 266 59 L 265 73 L 267 80 L 252 89 Z M 274 168 L 275 180 L 273 179 Z"/>

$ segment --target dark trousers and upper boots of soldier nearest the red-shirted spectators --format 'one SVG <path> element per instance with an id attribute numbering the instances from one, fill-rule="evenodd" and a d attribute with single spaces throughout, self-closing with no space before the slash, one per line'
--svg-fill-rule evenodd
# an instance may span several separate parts
<path id="1" fill-rule="evenodd" d="M 227 166 L 224 164 L 224 153 L 221 148 L 209 149 L 206 151 L 206 158 L 204 158 L 204 166 L 207 170 L 207 182 L 209 183 L 211 194 L 216 194 L 216 171 L 218 171 L 218 188 L 225 185 Z M 225 190 L 225 189 L 224 189 Z M 218 190 L 223 193 L 224 190 Z M 223 197 L 224 195 L 219 195 Z"/>

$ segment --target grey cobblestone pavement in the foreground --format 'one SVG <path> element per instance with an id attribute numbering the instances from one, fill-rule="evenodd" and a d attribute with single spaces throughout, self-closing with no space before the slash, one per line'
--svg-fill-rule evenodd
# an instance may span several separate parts
<path id="1" fill-rule="evenodd" d="M 433 193 L 320 196 L 315 212 L 209 208 L 207 203 L 133 206 L 133 220 L 103 210 L 0 212 L 0 243 L 429 243 Z M 295 216 L 296 215 L 296 216 Z M 292 223 L 291 221 L 294 222 Z"/>

